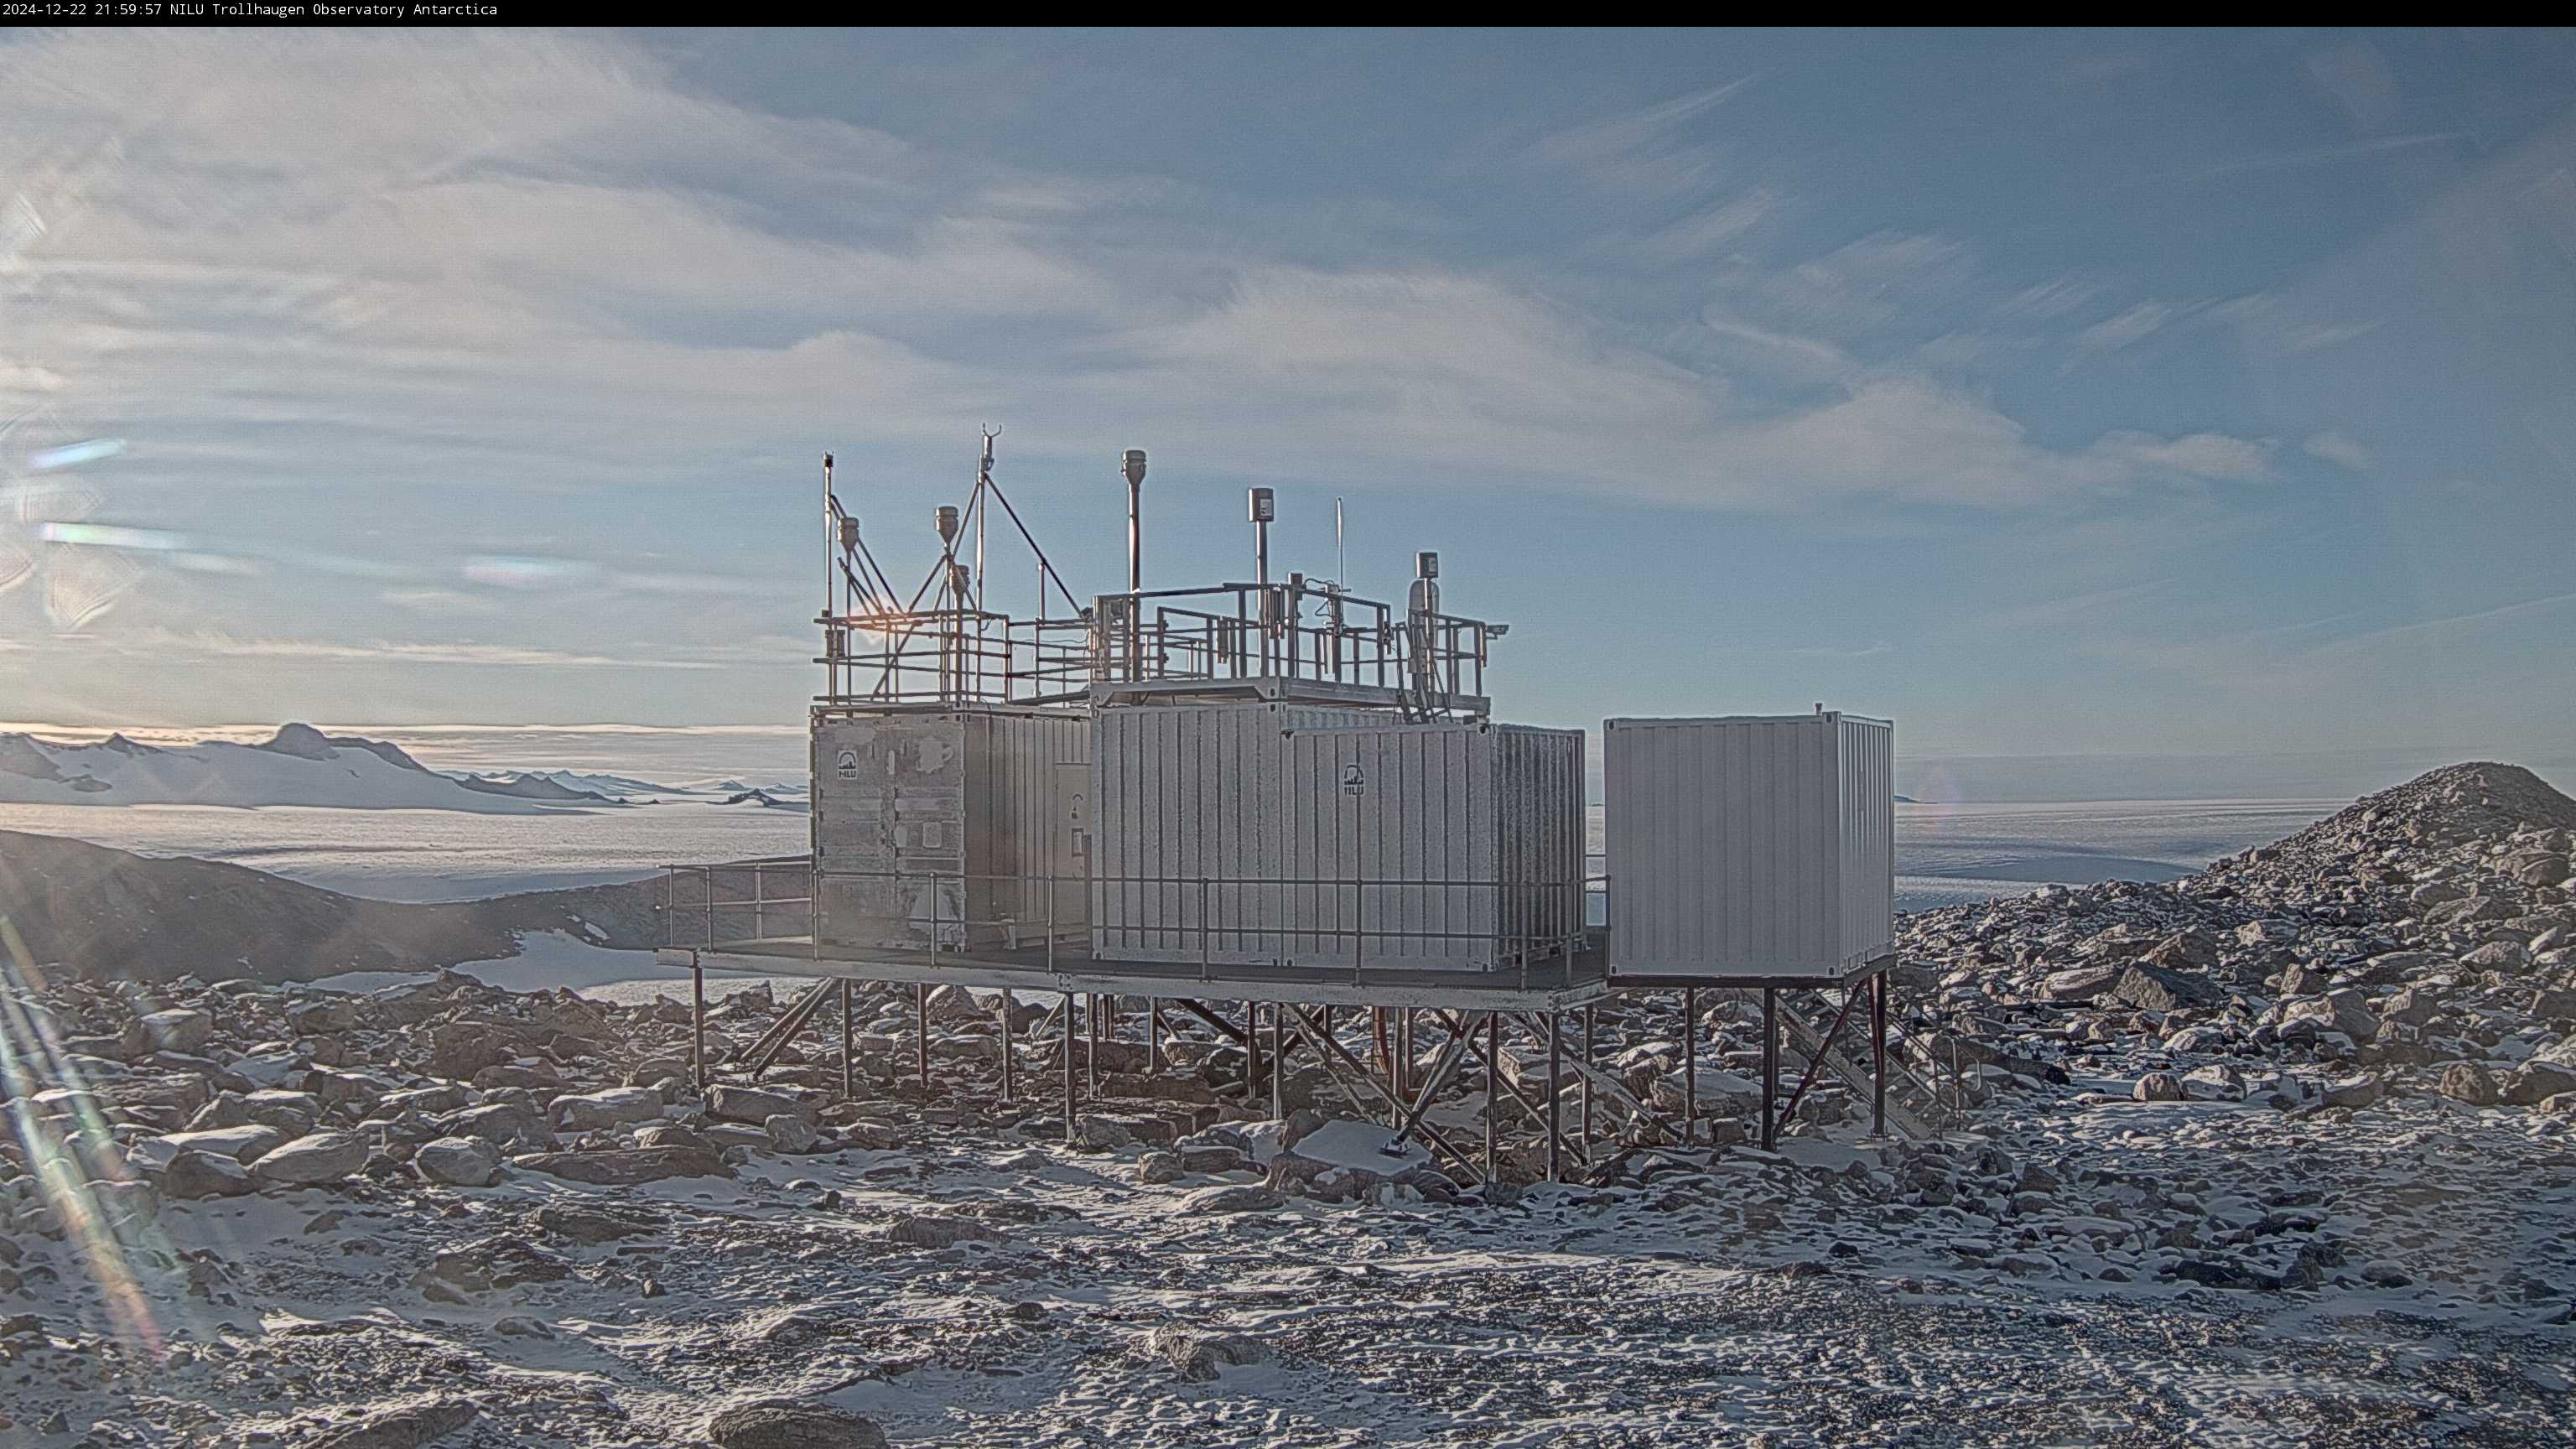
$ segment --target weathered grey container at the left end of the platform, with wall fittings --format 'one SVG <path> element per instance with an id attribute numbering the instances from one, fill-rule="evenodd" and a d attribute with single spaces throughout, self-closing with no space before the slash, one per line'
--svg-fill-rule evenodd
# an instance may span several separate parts
<path id="1" fill-rule="evenodd" d="M 817 719 L 822 938 L 1020 946 L 1043 941 L 1048 920 L 1079 936 L 1090 758 L 1084 714 Z"/>

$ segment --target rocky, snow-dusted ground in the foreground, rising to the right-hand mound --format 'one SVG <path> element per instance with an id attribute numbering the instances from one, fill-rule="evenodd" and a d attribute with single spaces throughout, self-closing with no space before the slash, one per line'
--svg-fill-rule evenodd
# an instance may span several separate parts
<path id="1" fill-rule="evenodd" d="M 1383 1155 L 1311 1052 L 1270 1122 L 1242 1047 L 1149 1073 L 1133 1011 L 1069 1142 L 1043 1003 L 1015 1106 L 953 990 L 930 1093 L 891 990 L 855 1098 L 837 1029 L 701 1093 L 667 1000 L 18 954 L 0 1444 L 2568 1441 L 2571 830 L 2455 766 L 2184 882 L 1909 918 L 1940 1140 L 1819 1073 L 1752 1150 L 1749 1008 L 1628 998 L 1582 1183 L 1528 1132 L 1502 1183 Z M 1685 1067 L 1726 1147 L 1672 1142 Z M 1479 1145 L 1486 1091 L 1435 1127 Z"/>

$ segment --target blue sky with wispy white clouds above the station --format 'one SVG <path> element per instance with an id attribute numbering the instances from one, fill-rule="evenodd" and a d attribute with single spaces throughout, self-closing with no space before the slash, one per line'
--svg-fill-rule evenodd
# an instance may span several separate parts
<path id="1" fill-rule="evenodd" d="M 796 722 L 999 428 L 1507 719 L 2568 758 L 2571 397 L 2566 31 L 0 36 L 0 719 Z"/>

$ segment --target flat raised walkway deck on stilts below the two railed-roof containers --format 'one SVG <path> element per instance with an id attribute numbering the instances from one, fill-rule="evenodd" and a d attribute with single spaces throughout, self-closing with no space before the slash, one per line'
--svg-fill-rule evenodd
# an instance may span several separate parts
<path id="1" fill-rule="evenodd" d="M 1422 1006 L 1448 1011 L 1569 1011 L 1613 993 L 1600 951 L 1510 972 L 1404 967 L 1273 967 L 1133 962 L 1087 951 L 904 951 L 824 946 L 811 936 L 662 946 L 677 969 L 781 977 L 961 985 L 971 990 L 1131 995 L 1164 1000 L 1262 1000 L 1293 1006 Z"/>

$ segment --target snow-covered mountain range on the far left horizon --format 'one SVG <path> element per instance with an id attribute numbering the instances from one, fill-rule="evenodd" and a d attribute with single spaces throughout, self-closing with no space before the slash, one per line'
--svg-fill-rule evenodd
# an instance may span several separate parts
<path id="1" fill-rule="evenodd" d="M 556 786 L 559 789 L 559 786 Z M 137 745 L 108 735 L 95 745 L 62 745 L 33 735 L 0 735 L 0 802 L 8 804 L 317 804 L 337 810 L 474 810 L 536 815 L 549 799 L 477 789 L 425 768 L 399 745 L 325 735 L 283 724 L 258 745 L 204 740 Z"/>

